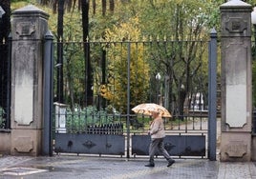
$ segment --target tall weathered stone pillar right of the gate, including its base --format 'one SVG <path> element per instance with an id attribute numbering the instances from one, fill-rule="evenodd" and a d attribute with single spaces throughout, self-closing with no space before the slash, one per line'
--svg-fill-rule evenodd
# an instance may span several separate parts
<path id="1" fill-rule="evenodd" d="M 240 0 L 221 5 L 221 161 L 251 159 L 251 6 Z"/>

